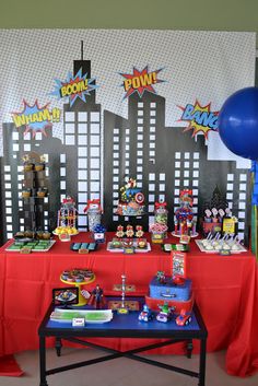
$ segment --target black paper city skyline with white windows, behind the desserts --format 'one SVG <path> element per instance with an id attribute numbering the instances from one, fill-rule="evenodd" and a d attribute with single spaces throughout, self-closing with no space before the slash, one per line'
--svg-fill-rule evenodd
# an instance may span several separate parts
<path id="1" fill-rule="evenodd" d="M 91 61 L 74 60 L 73 73 L 82 70 L 91 78 Z M 78 227 L 87 230 L 83 212 L 87 199 L 101 198 L 103 224 L 112 231 L 120 223 L 134 222 L 148 231 L 153 221 L 154 202 L 167 202 L 168 226 L 174 227 L 174 211 L 180 189 L 192 189 L 194 211 L 203 214 L 203 204 L 211 199 L 215 186 L 224 194 L 233 214 L 238 218 L 239 235 L 248 242 L 250 215 L 249 176 L 247 169 L 236 168 L 235 161 L 209 161 L 204 137 L 195 140 L 181 128 L 165 127 L 165 98 L 145 92 L 128 97 L 128 119 L 96 104 L 92 91 L 86 103 L 77 100 L 72 107 L 63 105 L 63 143 L 38 132 L 24 136 L 25 127 L 3 124 L 3 157 L 1 163 L 1 236 L 2 242 L 24 230 L 22 212 L 22 156 L 37 152 L 46 156 L 49 180 L 48 210 L 44 226 L 52 231 L 57 211 L 67 195 L 78 203 Z M 128 177 L 137 178 L 146 202 L 146 215 L 139 219 L 120 218 L 116 212 L 119 189 Z"/>

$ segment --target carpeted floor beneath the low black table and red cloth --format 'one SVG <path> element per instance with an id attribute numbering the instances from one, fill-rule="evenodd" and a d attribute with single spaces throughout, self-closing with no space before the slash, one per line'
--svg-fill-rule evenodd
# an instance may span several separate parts
<path id="1" fill-rule="evenodd" d="M 63 348 L 61 358 L 58 358 L 54 349 L 48 349 L 47 364 L 49 369 L 98 355 L 101 356 L 103 353 L 92 349 Z M 0 386 L 39 386 L 38 352 L 22 352 L 16 354 L 15 359 L 24 374 L 20 377 L 0 376 Z M 159 355 L 151 355 L 151 359 L 159 360 Z M 162 360 L 192 371 L 197 371 L 199 365 L 198 355 L 194 355 L 191 359 L 181 355 L 163 355 Z M 225 373 L 224 363 L 225 353 L 223 351 L 207 355 L 206 386 L 258 385 L 258 374 L 248 378 L 230 376 Z M 49 375 L 47 383 L 48 386 L 197 386 L 198 379 L 122 358 Z"/>

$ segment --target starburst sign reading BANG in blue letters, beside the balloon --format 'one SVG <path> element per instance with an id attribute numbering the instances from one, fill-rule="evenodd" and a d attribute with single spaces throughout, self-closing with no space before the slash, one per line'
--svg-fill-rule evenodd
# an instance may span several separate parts
<path id="1" fill-rule="evenodd" d="M 178 121 L 188 121 L 188 127 L 184 130 L 192 131 L 192 137 L 198 132 L 203 132 L 206 139 L 210 130 L 218 131 L 218 115 L 219 112 L 211 112 L 211 102 L 207 106 L 201 106 L 196 100 L 195 105 L 187 104 L 186 107 L 178 106 L 183 110 L 183 115 Z"/>

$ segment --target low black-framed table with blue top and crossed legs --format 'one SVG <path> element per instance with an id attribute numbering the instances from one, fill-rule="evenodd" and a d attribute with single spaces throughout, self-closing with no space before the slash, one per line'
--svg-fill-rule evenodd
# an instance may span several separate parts
<path id="1" fill-rule="evenodd" d="M 140 297 L 133 297 L 143 304 L 143 301 Z M 39 386 L 48 386 L 46 377 L 48 375 L 57 374 L 68 370 L 74 370 L 81 366 L 89 366 L 91 364 L 96 364 L 101 362 L 110 361 L 117 358 L 125 356 L 134 361 L 148 363 L 161 369 L 169 370 L 176 373 L 185 374 L 190 377 L 198 378 L 198 385 L 204 386 L 206 384 L 206 342 L 207 342 L 207 329 L 202 320 L 201 314 L 195 304 L 191 313 L 191 323 L 188 326 L 177 326 L 175 320 L 171 323 L 160 323 L 151 320 L 150 323 L 140 321 L 138 319 L 139 313 L 136 311 L 129 312 L 127 315 L 119 314 L 114 312 L 113 319 L 110 323 L 103 324 L 87 324 L 85 327 L 73 327 L 71 323 L 60 323 L 51 320 L 50 315 L 55 309 L 55 306 L 51 304 L 39 326 L 39 367 L 40 367 L 40 383 Z M 54 369 L 47 369 L 46 366 L 46 338 L 56 337 L 58 341 L 57 353 L 60 356 L 61 354 L 61 344 L 63 340 L 72 341 L 80 343 L 82 346 L 91 346 L 97 348 L 101 351 L 104 351 L 105 356 L 95 358 L 90 361 L 77 362 L 66 366 L 59 366 Z M 102 337 L 104 338 L 104 346 L 94 344 L 89 341 L 91 337 Z M 154 344 L 143 344 L 136 350 L 114 350 L 105 346 L 105 338 L 160 338 L 163 339 L 160 343 Z M 83 340 L 81 338 L 84 338 Z M 146 351 L 150 349 L 155 349 L 159 347 L 167 347 L 176 342 L 185 342 L 186 346 L 189 346 L 188 356 L 191 355 L 192 339 L 198 339 L 200 341 L 200 354 L 199 354 L 199 371 L 190 371 L 186 367 L 177 367 L 174 365 L 165 364 L 160 361 L 153 361 L 152 359 L 146 359 L 144 356 L 139 356 L 138 353 Z"/>

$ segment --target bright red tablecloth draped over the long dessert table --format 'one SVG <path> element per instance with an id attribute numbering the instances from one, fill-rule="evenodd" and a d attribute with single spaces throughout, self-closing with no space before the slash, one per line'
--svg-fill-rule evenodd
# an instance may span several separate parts
<path id="1" fill-rule="evenodd" d="M 110 237 L 110 235 L 108 235 Z M 85 234 L 72 241 L 86 241 Z M 172 241 L 172 239 L 171 239 Z M 175 242 L 175 239 L 174 239 Z M 64 269 L 87 267 L 94 270 L 105 292 L 120 283 L 134 284 L 138 294 L 157 270 L 171 271 L 171 256 L 152 245 L 152 252 L 124 255 L 106 252 L 80 255 L 69 243 L 57 241 L 48 253 L 24 255 L 0 249 L 0 355 L 38 347 L 37 328 L 51 300 L 52 288 L 63 286 Z M 187 254 L 188 277 L 192 279 L 196 301 L 206 321 L 208 351 L 226 349 L 226 371 L 245 376 L 258 370 L 258 269 L 250 253 L 223 257 L 204 254 L 191 242 Z M 94 284 L 90 284 L 92 289 Z M 128 348 L 127 340 L 110 346 Z M 166 351 L 168 352 L 168 348 Z"/>

